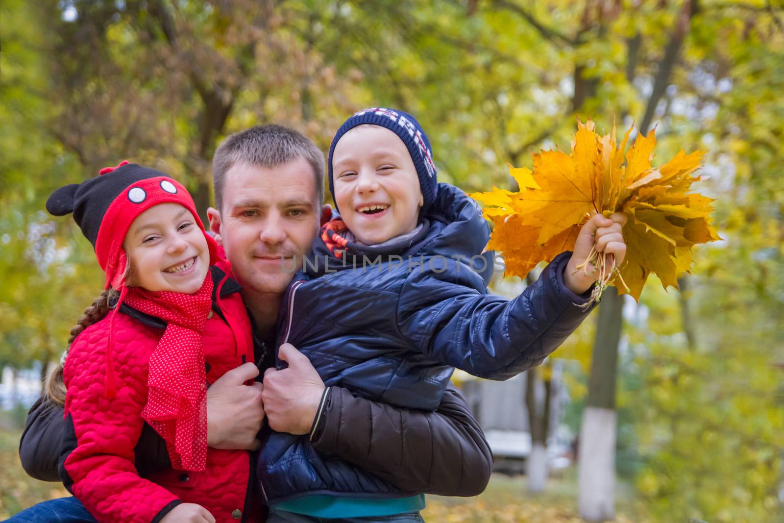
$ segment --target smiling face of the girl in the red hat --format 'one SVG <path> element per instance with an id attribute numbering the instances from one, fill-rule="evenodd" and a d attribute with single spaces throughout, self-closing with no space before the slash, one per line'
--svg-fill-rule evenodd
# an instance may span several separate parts
<path id="1" fill-rule="evenodd" d="M 123 247 L 132 268 L 128 285 L 148 291 L 193 294 L 209 271 L 207 239 L 178 203 L 154 205 L 136 216 Z"/>

